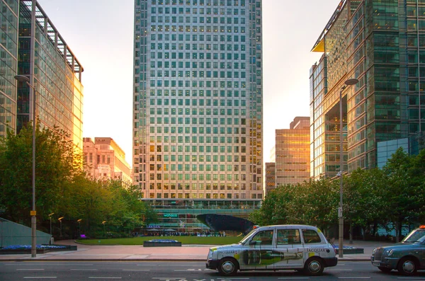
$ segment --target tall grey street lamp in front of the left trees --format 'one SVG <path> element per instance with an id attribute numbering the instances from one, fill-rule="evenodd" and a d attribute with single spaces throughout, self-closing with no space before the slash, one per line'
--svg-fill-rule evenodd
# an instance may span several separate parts
<path id="1" fill-rule="evenodd" d="M 16 75 L 15 79 L 19 82 L 27 84 L 30 88 L 33 89 L 33 209 L 30 212 L 31 216 L 31 258 L 37 256 L 37 245 L 35 237 L 36 229 L 36 217 L 35 215 L 35 88 L 30 84 L 30 79 L 27 76 Z"/>

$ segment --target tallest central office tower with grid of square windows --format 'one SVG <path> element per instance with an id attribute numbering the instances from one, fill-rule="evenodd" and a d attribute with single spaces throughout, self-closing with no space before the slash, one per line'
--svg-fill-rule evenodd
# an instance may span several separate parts
<path id="1" fill-rule="evenodd" d="M 134 183 L 263 197 L 261 0 L 135 0 Z"/>

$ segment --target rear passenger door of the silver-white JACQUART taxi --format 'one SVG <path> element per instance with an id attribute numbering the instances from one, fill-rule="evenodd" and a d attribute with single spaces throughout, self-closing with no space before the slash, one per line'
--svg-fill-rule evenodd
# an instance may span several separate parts
<path id="1" fill-rule="evenodd" d="M 301 242 L 300 229 L 276 229 L 276 263 L 275 269 L 303 268 L 304 247 Z"/>

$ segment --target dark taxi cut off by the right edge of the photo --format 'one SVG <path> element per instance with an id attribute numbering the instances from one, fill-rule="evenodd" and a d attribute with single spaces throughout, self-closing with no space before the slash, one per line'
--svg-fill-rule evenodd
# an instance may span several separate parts
<path id="1" fill-rule="evenodd" d="M 375 248 L 370 261 L 385 273 L 397 269 L 403 275 L 413 275 L 425 269 L 425 225 L 411 231 L 401 243 Z"/>

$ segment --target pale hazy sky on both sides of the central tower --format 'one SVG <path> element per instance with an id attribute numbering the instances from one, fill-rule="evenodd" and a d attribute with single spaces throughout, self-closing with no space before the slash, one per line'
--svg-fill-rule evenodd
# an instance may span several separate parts
<path id="1" fill-rule="evenodd" d="M 263 161 L 275 130 L 310 116 L 314 43 L 340 0 L 263 0 Z M 84 67 L 83 136 L 112 137 L 132 166 L 134 0 L 38 0 Z"/>

